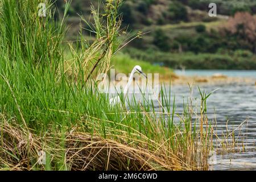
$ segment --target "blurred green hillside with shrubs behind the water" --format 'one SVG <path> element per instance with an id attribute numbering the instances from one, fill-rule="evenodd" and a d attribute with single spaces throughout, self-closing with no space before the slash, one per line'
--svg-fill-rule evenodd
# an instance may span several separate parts
<path id="1" fill-rule="evenodd" d="M 215 0 L 217 17 L 208 15 L 209 0 L 126 0 L 119 10 L 127 36 L 148 32 L 123 52 L 134 59 L 172 68 L 256 69 L 256 1 Z M 98 1 L 75 0 L 69 9 L 68 39 L 77 39 L 80 21 L 91 18 Z M 64 1 L 56 1 L 63 12 Z M 102 7 L 100 7 L 101 9 Z M 90 36 L 89 31 L 83 34 Z M 131 53 L 132 52 L 132 53 Z M 157 57 L 156 57 L 157 55 Z"/>

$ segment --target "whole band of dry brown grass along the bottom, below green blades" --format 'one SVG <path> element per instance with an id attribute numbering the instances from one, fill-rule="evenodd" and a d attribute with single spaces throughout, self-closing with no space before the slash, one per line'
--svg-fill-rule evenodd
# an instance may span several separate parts
<path id="1" fill-rule="evenodd" d="M 11 124 L 10 124 L 11 123 Z M 170 151 L 164 143 L 157 150 L 150 150 L 150 143 L 122 142 L 119 139 L 104 139 L 89 133 L 46 134 L 43 137 L 24 130 L 15 121 L 7 121 L 1 115 L 0 163 L 2 170 L 31 170 L 46 167 L 38 164 L 39 151 L 45 151 L 53 166 L 63 160 L 68 170 L 195 170 L 203 169 L 188 156 Z M 63 138 L 64 136 L 64 138 Z M 117 136 L 115 136 L 117 137 Z M 64 152 L 64 159 L 61 159 Z M 193 164 L 193 165 L 191 165 Z M 52 169 L 55 169 L 54 167 Z"/>

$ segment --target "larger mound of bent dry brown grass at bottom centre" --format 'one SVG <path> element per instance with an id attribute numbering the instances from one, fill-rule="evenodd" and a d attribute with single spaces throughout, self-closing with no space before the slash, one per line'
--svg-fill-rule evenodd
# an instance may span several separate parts
<path id="1" fill-rule="evenodd" d="M 68 135 L 67 161 L 76 170 L 174 170 L 171 156 L 164 158 L 146 148 L 131 147 L 114 140 L 90 137 L 88 134 Z"/>

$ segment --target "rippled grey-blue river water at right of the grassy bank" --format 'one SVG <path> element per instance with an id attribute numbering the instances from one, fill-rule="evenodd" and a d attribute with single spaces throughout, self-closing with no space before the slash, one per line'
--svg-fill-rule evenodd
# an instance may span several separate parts
<path id="1" fill-rule="evenodd" d="M 175 71 L 177 75 L 185 76 L 212 76 L 214 73 L 221 73 L 230 77 L 251 77 L 255 78 L 256 71 Z M 251 83 L 233 84 L 200 84 L 200 89 L 211 92 L 218 88 L 207 100 L 208 118 L 217 121 L 217 133 L 221 135 L 228 129 L 234 131 L 237 140 L 245 142 L 245 151 L 231 152 L 225 155 L 216 155 L 215 162 L 211 166 L 213 170 L 256 170 L 256 85 Z M 172 95 L 176 97 L 177 113 L 183 111 L 183 101 L 190 96 L 189 87 L 185 85 L 174 85 L 171 88 Z M 200 102 L 198 88 L 193 88 L 195 102 Z M 197 98 L 197 101 L 196 101 Z M 246 120 L 247 119 L 247 120 Z"/>

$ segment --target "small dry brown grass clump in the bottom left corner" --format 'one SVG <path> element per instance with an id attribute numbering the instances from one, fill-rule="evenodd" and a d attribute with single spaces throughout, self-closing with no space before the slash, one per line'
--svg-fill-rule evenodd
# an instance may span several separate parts
<path id="1" fill-rule="evenodd" d="M 1 168 L 12 170 L 22 170 L 30 168 L 30 160 L 37 158 L 37 150 L 40 148 L 40 142 L 22 127 L 15 124 L 10 125 L 6 118 L 1 114 L 1 149 L 0 164 Z"/>

